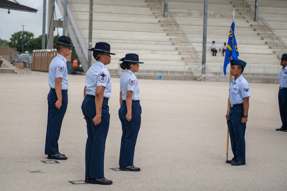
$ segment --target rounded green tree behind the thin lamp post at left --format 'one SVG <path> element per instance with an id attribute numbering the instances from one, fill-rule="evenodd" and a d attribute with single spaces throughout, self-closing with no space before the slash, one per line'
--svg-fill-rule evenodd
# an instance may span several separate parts
<path id="1" fill-rule="evenodd" d="M 24 52 L 27 50 L 27 44 L 30 43 L 30 40 L 34 38 L 34 34 L 29 31 L 24 31 Z M 8 43 L 10 47 L 17 48 L 17 51 L 22 52 L 22 43 L 23 43 L 23 31 L 15 32 L 11 35 L 10 42 Z"/>

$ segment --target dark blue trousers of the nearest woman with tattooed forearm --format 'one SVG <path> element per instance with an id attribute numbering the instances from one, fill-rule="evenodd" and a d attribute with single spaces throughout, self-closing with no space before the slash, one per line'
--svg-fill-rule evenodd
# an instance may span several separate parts
<path id="1" fill-rule="evenodd" d="M 108 128 L 110 125 L 110 113 L 108 98 L 104 97 L 102 105 L 101 123 L 94 125 L 96 116 L 95 96 L 86 95 L 82 103 L 82 112 L 87 122 L 88 138 L 86 143 L 86 177 L 104 177 L 104 155 Z"/>

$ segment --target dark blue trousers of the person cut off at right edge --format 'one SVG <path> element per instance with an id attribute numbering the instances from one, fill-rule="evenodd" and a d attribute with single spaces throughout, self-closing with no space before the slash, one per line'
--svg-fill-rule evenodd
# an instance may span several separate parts
<path id="1" fill-rule="evenodd" d="M 279 111 L 282 121 L 281 127 L 287 127 L 287 89 L 279 89 L 278 92 Z"/>

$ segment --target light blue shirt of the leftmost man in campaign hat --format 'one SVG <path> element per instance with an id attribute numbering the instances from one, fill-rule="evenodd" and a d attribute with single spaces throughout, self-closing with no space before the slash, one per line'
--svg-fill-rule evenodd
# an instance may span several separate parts
<path id="1" fill-rule="evenodd" d="M 67 59 L 61 54 L 57 54 L 49 66 L 49 86 L 55 89 L 55 78 L 62 78 L 62 90 L 68 89 L 68 69 Z"/>

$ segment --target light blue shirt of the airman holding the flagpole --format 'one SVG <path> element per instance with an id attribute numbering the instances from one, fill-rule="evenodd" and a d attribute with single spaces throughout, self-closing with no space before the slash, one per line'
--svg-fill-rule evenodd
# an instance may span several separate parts
<path id="1" fill-rule="evenodd" d="M 229 86 L 229 101 L 230 104 L 238 104 L 243 103 L 243 98 L 250 97 L 250 86 L 249 83 L 243 78 L 243 76 L 239 76 L 236 80 L 233 80 Z"/>

